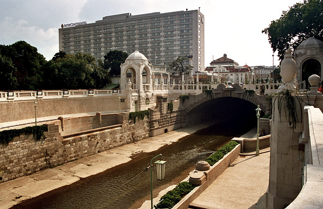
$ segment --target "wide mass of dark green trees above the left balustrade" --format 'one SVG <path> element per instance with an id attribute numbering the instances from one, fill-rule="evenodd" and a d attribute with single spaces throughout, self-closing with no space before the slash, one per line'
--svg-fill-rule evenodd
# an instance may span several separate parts
<path id="1" fill-rule="evenodd" d="M 110 83 L 102 61 L 90 54 L 60 51 L 46 61 L 25 41 L 0 45 L 0 90 L 100 89 Z"/>

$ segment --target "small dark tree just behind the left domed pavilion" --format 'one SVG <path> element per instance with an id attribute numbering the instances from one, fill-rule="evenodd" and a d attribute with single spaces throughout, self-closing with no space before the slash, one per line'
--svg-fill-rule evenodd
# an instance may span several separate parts
<path id="1" fill-rule="evenodd" d="M 128 54 L 119 50 L 112 50 L 104 55 L 103 68 L 109 70 L 111 76 L 119 76 L 121 74 L 120 65 L 125 62 Z"/>

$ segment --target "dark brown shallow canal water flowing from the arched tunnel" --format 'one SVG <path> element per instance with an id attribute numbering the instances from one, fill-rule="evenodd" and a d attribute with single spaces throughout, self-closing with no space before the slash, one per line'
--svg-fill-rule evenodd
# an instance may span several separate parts
<path id="1" fill-rule="evenodd" d="M 150 172 L 144 171 L 152 157 L 162 154 L 167 161 L 166 177 L 156 180 L 153 171 L 154 196 L 159 191 L 186 178 L 198 161 L 228 143 L 232 137 L 248 132 L 252 127 L 228 128 L 228 124 L 214 124 L 177 143 L 152 153 L 136 155 L 130 162 L 116 166 L 94 176 L 83 178 L 38 197 L 26 200 L 12 208 L 138 208 L 150 199 Z"/>

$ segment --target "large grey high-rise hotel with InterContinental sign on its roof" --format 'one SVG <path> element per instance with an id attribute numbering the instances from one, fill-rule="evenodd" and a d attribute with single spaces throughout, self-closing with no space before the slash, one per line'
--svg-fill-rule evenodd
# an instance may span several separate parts
<path id="1" fill-rule="evenodd" d="M 66 27 L 76 25 L 73 27 Z M 204 16 L 198 10 L 129 13 L 103 17 L 95 23 L 62 24 L 60 50 L 89 53 L 104 59 L 110 50 L 138 50 L 153 64 L 169 66 L 178 56 L 193 54 L 193 72 L 204 71 Z"/>

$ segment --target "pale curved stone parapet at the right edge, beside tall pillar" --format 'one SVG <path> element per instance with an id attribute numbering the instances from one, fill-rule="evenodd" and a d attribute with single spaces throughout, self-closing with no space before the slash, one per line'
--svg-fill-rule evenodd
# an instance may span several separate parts
<path id="1" fill-rule="evenodd" d="M 300 137 L 299 160 L 303 161 L 302 190 L 286 208 L 322 208 L 323 205 L 323 113 L 304 107 L 304 129 Z"/>

